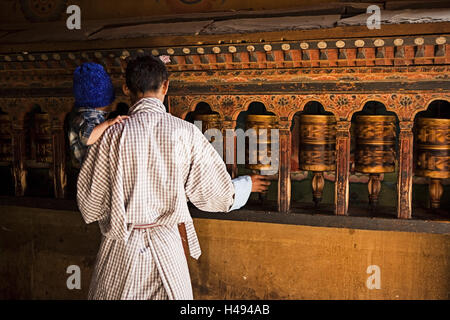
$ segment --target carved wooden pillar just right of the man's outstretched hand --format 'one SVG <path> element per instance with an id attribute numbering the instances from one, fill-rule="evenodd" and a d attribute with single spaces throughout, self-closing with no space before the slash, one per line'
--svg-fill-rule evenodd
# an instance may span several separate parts
<path id="1" fill-rule="evenodd" d="M 291 207 L 291 130 L 290 122 L 280 121 L 278 211 L 289 212 Z"/>

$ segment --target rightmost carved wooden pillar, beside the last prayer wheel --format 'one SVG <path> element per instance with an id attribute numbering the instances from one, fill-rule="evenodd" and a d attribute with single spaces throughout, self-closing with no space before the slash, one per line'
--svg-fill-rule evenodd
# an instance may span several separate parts
<path id="1" fill-rule="evenodd" d="M 410 219 L 412 213 L 413 132 L 412 121 L 400 121 L 397 216 Z"/>

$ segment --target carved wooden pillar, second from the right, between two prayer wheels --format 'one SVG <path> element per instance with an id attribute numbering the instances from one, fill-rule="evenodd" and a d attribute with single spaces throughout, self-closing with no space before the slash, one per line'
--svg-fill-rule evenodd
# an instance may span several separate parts
<path id="1" fill-rule="evenodd" d="M 336 182 L 335 214 L 347 215 L 350 175 L 350 121 L 338 121 L 336 124 Z"/>

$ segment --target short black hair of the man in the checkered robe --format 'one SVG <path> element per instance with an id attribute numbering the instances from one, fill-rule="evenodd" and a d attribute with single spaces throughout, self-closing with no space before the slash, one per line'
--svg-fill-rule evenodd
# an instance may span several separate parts
<path id="1" fill-rule="evenodd" d="M 128 62 L 126 83 L 134 95 L 155 92 L 168 79 L 166 65 L 157 57 L 141 55 Z"/>

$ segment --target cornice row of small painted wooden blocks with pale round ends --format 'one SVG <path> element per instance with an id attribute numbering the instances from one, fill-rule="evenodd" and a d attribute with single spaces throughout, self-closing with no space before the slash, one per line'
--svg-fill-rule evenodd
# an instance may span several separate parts
<path id="1" fill-rule="evenodd" d="M 202 69 L 238 69 L 273 67 L 336 67 L 375 65 L 423 65 L 448 62 L 448 35 L 423 35 L 417 42 L 414 36 L 403 38 L 362 38 L 352 41 L 309 40 L 272 41 L 264 43 L 237 43 L 191 45 L 173 47 L 88 49 L 61 52 L 18 52 L 0 54 L 0 61 L 20 63 L 25 67 L 73 65 L 74 62 L 96 60 L 108 67 L 121 67 L 120 58 L 147 53 L 155 56 L 169 54 L 171 71 Z M 187 40 L 187 39 L 186 39 Z M 398 41 L 401 41 L 398 42 Z M 195 41 L 195 40 L 194 40 Z M 194 42 L 193 41 L 193 42 Z M 195 41 L 196 43 L 202 41 Z M 342 42 L 345 48 L 342 48 Z M 397 42 L 397 43 L 396 43 Z M 361 47 L 362 44 L 362 47 Z M 325 47 L 325 48 L 324 48 Z M 270 50 L 268 50 L 270 49 Z M 117 60 L 119 58 L 119 60 Z M 173 70 L 172 70 L 173 69 Z"/>

